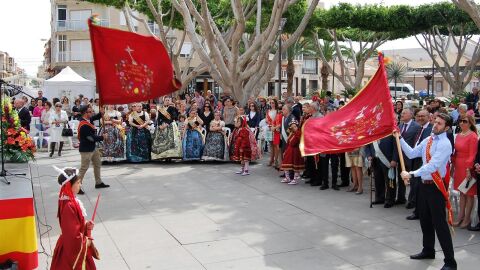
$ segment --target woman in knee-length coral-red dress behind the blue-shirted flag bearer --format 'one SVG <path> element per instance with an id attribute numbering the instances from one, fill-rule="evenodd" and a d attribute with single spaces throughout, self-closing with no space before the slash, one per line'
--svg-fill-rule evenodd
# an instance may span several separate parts
<path id="1" fill-rule="evenodd" d="M 458 186 L 460 186 L 467 176 L 467 170 L 473 168 L 478 145 L 477 128 L 475 127 L 473 116 L 461 116 L 459 125 L 460 133 L 458 133 L 455 138 L 455 153 L 452 157 L 455 168 L 453 175 L 453 188 L 455 190 L 458 190 Z M 458 213 L 458 221 L 453 224 L 454 226 L 466 228 L 470 224 L 470 215 L 472 213 L 476 190 L 477 187 L 476 184 L 474 184 L 471 185 L 466 194 L 460 192 L 460 210 Z"/>

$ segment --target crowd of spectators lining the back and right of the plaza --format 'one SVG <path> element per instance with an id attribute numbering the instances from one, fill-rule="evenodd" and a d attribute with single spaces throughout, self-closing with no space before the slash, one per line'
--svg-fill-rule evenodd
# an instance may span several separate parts
<path id="1" fill-rule="evenodd" d="M 422 186 L 431 180 L 425 180 L 419 171 L 425 164 L 434 162 L 421 151 L 425 151 L 425 147 L 430 149 L 427 152 L 444 147 L 445 151 L 437 152 L 448 153 L 445 160 L 448 166 L 435 168 L 447 187 L 452 176 L 453 189 L 459 193 L 459 211 L 453 225 L 479 231 L 480 225 L 471 224 L 475 195 L 480 192 L 479 185 L 472 181 L 480 175 L 476 127 L 480 116 L 478 97 L 479 92 L 474 89 L 457 106 L 446 107 L 438 99 L 426 101 L 422 106 L 409 106 L 403 100 L 395 103 L 405 167 L 413 175 L 409 179 L 408 196 L 402 179 L 410 176 L 397 169 L 400 160 L 393 135 L 348 153 L 301 156 L 299 147 L 305 122 L 309 118 L 324 117 L 348 102 L 339 95 L 332 97 L 329 92 L 325 97 L 315 93 L 311 100 L 287 96 L 282 99 L 251 97 L 245 106 L 240 106 L 232 97 L 216 97 L 210 91 L 205 95 L 196 92 L 194 96 L 166 96 L 156 101 L 100 106 L 98 99 L 83 96 L 73 103 L 66 97 L 50 102 L 39 91 L 38 97 L 30 101 L 22 97 L 16 99 L 14 105 L 22 126 L 29 129 L 31 117 L 37 117 L 36 129 L 50 134 L 50 157 L 57 143 L 58 155 L 61 155 L 66 141 L 62 130 L 67 123 L 80 121 L 78 130 L 83 135 L 79 134 L 82 156 L 79 177 L 83 178 L 92 162 L 96 188 L 108 187 L 100 178 L 101 162 L 235 161 L 241 164 L 236 173 L 247 176 L 251 173 L 250 162 L 268 155 L 266 160 L 272 167 L 272 175 L 275 174 L 273 169 L 280 171 L 282 183 L 296 185 L 303 179 L 305 184 L 318 186 L 320 190 L 346 187 L 348 192 L 362 194 L 364 174 L 366 170 L 372 171 L 375 179 L 373 204 L 383 204 L 385 208 L 405 205 L 413 210 L 408 220 L 422 221 L 422 216 L 425 219 L 428 212 L 425 206 L 428 202 L 419 194 L 422 194 Z M 441 124 L 443 132 L 438 131 Z M 433 139 L 426 142 L 427 138 L 440 137 L 439 134 L 448 140 L 448 146 L 433 144 Z M 97 142 L 101 151 L 96 150 Z M 430 157 L 435 158 L 435 155 Z M 79 189 L 79 193 L 83 191 Z M 422 231 L 425 234 L 424 223 Z M 449 252 L 448 247 L 446 249 Z M 447 259 L 453 260 L 453 251 L 447 255 L 450 256 Z"/>

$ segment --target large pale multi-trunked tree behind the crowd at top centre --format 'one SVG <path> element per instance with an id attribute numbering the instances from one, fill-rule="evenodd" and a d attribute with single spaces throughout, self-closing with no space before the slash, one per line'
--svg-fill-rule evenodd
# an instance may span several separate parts
<path id="1" fill-rule="evenodd" d="M 287 49 L 299 39 L 318 4 L 318 0 L 311 1 L 305 12 L 305 1 L 266 1 L 261 3 L 262 11 L 256 13 L 258 1 L 261 0 L 223 0 L 209 4 L 207 0 L 199 0 L 196 5 L 197 1 L 193 0 L 172 0 L 183 17 L 184 29 L 193 47 L 208 66 L 212 78 L 242 104 L 247 97 L 258 95 L 274 75 L 279 50 L 273 59 L 269 56 L 284 14 L 288 11 L 292 19 L 287 21 L 285 29 L 291 34 L 282 46 Z M 219 2 L 230 5 L 228 11 L 232 16 L 225 24 L 215 20 Z M 249 31 L 249 25 L 254 26 L 251 28 L 254 31 Z M 205 45 L 198 33 L 205 37 Z"/>

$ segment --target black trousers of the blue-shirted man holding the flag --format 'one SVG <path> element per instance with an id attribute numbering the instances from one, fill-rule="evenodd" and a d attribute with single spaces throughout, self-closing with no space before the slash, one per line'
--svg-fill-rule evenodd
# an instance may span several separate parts
<path id="1" fill-rule="evenodd" d="M 419 184 L 418 212 L 423 233 L 423 252 L 435 253 L 435 233 L 445 256 L 445 264 L 456 266 L 452 236 L 447 223 L 445 199 L 435 184 Z"/>

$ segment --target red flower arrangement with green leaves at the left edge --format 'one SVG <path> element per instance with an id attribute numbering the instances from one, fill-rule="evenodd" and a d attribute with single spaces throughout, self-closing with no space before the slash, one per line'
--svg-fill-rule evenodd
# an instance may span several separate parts
<path id="1" fill-rule="evenodd" d="M 14 162 L 28 162 L 35 158 L 35 144 L 28 131 L 20 126 L 17 111 L 9 97 L 2 100 L 2 140 L 4 157 Z"/>

